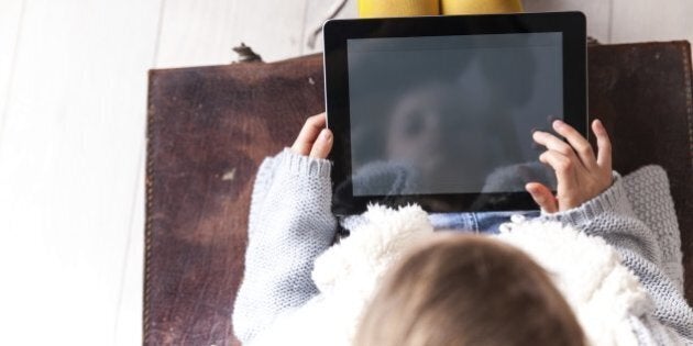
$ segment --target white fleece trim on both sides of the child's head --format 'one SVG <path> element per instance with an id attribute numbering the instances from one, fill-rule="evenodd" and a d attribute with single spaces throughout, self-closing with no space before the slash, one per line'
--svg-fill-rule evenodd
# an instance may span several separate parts
<path id="1" fill-rule="evenodd" d="M 371 205 L 351 235 L 323 253 L 307 305 L 278 319 L 256 345 L 351 345 L 361 314 L 386 270 L 433 228 L 418 205 Z M 552 277 L 591 345 L 637 345 L 629 319 L 652 303 L 618 254 L 600 237 L 559 223 L 515 220 L 498 239 L 525 250 Z"/>

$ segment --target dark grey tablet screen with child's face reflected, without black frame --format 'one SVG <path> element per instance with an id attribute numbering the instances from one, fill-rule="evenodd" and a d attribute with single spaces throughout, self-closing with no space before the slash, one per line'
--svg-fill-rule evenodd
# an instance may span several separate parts
<path id="1" fill-rule="evenodd" d="M 354 196 L 554 186 L 532 130 L 563 113 L 561 33 L 348 41 Z"/>

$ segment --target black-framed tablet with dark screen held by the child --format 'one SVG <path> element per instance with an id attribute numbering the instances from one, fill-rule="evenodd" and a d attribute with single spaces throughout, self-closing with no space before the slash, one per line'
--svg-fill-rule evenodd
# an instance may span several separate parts
<path id="1" fill-rule="evenodd" d="M 526 182 L 556 178 L 531 133 L 586 137 L 585 59 L 580 12 L 326 22 L 333 212 L 537 209 Z"/>

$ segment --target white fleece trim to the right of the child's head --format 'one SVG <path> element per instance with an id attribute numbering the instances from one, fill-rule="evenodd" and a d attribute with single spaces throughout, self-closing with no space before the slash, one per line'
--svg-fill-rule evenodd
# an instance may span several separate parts
<path id="1" fill-rule="evenodd" d="M 506 230 L 497 238 L 549 272 L 592 345 L 638 345 L 629 319 L 653 304 L 612 246 L 558 222 L 517 220 Z"/>

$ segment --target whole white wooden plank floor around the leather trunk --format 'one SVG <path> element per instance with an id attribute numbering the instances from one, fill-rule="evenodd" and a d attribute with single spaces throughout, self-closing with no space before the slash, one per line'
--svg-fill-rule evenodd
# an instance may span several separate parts
<path id="1" fill-rule="evenodd" d="M 141 343 L 147 69 L 319 52 L 334 2 L 0 0 L 0 345 Z M 691 0 L 525 5 L 584 11 L 603 43 L 693 41 Z"/>

